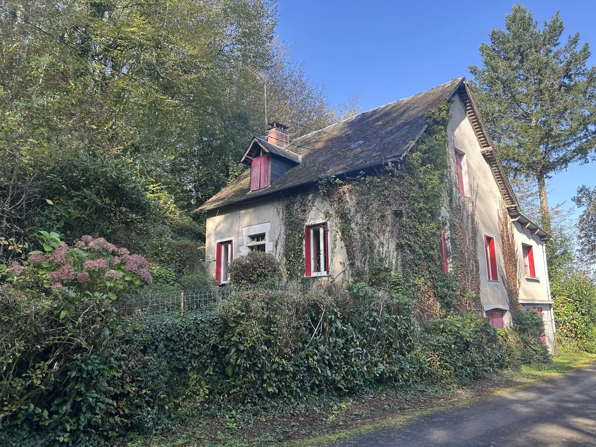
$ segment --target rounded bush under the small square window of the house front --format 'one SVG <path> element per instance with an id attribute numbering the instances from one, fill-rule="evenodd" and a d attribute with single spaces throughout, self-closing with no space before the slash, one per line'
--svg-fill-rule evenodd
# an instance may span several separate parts
<path id="1" fill-rule="evenodd" d="M 252 250 L 232 260 L 229 275 L 234 284 L 278 283 L 281 266 L 273 253 Z"/>

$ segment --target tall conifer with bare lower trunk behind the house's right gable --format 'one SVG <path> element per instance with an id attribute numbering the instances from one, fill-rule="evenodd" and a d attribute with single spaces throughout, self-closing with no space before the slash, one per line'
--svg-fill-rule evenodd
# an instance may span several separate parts
<path id="1" fill-rule="evenodd" d="M 586 67 L 579 33 L 560 42 L 558 11 L 542 30 L 517 4 L 480 45 L 483 67 L 470 66 L 471 88 L 505 165 L 538 183 L 542 225 L 551 229 L 546 181 L 570 164 L 587 163 L 596 142 L 596 67 Z"/>

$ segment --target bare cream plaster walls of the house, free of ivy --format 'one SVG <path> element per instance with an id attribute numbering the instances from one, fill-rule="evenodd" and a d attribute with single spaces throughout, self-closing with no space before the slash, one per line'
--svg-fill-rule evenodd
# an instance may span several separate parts
<path id="1" fill-rule="evenodd" d="M 463 189 L 467 197 L 476 201 L 476 220 L 479 225 L 477 234 L 478 259 L 480 262 L 480 296 L 486 311 L 502 312 L 505 327 L 510 323 L 510 309 L 507 290 L 501 278 L 503 259 L 499 242 L 499 212 L 502 212 L 502 193 L 497 184 L 491 165 L 482 154 L 477 133 L 468 116 L 460 95 L 455 94 L 451 106 L 451 122 L 448 126 L 449 150 L 455 159 L 455 151 L 460 153 Z M 407 157 L 407 155 L 406 155 Z M 280 193 L 281 194 L 281 193 Z M 232 204 L 207 212 L 206 222 L 206 263 L 210 273 L 216 275 L 216 246 L 218 242 L 232 240 L 232 257 L 248 253 L 252 237 L 263 234 L 265 251 L 282 256 L 283 219 L 281 218 L 280 194 L 262 199 L 253 198 L 250 203 Z M 316 225 L 324 221 L 328 207 L 318 199 L 313 206 L 307 225 Z M 328 234 L 334 234 L 333 224 L 328 222 Z M 555 327 L 552 314 L 552 301 L 548 287 L 547 265 L 544 244 L 541 238 L 524 228 L 524 224 L 514 222 L 515 240 L 519 260 L 520 303 L 524 308 L 541 309 L 546 328 L 548 346 L 554 346 Z M 533 234 L 534 233 L 534 234 Z M 331 236 L 329 236 L 331 237 Z M 485 237 L 493 238 L 496 247 L 498 274 L 489 278 Z M 336 238 L 335 246 L 328 241 L 329 268 L 322 272 L 324 277 L 333 280 L 349 280 L 346 277 L 346 252 L 342 241 Z M 524 275 L 523 246 L 532 247 L 535 275 Z M 312 251 L 312 249 L 311 249 Z M 327 270 L 327 269 L 325 269 Z"/>

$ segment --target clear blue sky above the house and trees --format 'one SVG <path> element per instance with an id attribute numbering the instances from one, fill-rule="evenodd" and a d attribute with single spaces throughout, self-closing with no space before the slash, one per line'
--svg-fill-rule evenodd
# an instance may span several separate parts
<path id="1" fill-rule="evenodd" d="M 596 1 L 525 1 L 542 23 L 560 10 L 564 36 L 579 31 L 595 52 Z M 482 64 L 478 51 L 492 28 L 504 28 L 513 1 L 281 0 L 279 39 L 324 83 L 331 104 L 355 94 L 363 110 L 417 94 Z M 574 165 L 549 184 L 552 205 L 582 185 L 596 185 L 596 162 Z M 577 212 L 576 212 L 577 213 Z"/>

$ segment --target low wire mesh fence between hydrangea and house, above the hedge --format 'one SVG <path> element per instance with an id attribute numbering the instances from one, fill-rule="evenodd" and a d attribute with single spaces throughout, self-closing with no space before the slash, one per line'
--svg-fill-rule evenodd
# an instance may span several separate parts
<path id="1" fill-rule="evenodd" d="M 310 284 L 283 283 L 139 293 L 120 297 L 118 312 L 122 316 L 184 315 L 188 312 L 213 310 L 219 302 L 233 293 L 250 290 L 287 290 L 307 293 L 310 288 Z"/>

